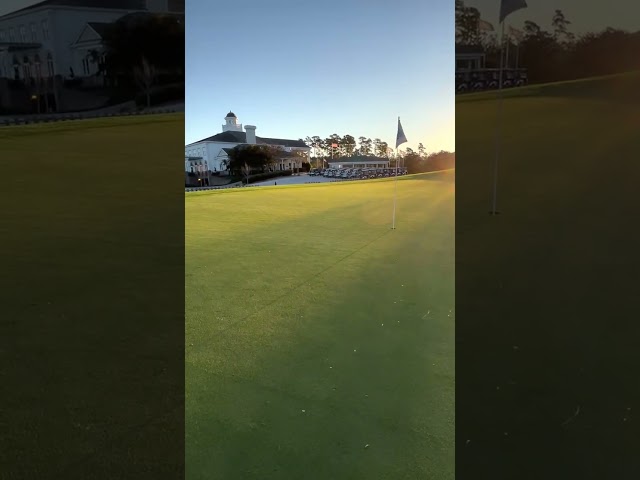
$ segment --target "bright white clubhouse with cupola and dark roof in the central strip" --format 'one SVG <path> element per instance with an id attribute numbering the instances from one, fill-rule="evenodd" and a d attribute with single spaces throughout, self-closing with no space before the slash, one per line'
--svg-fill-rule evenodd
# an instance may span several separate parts
<path id="1" fill-rule="evenodd" d="M 267 138 L 256 136 L 256 127 L 245 125 L 244 131 L 235 113 L 229 112 L 222 125 L 222 132 L 191 143 L 185 147 L 185 171 L 195 173 L 198 167 L 205 171 L 225 172 L 224 162 L 229 151 L 238 145 L 269 145 L 276 147 L 278 155 L 276 170 L 295 170 L 302 167 L 303 158 L 309 161 L 311 149 L 302 140 Z"/>

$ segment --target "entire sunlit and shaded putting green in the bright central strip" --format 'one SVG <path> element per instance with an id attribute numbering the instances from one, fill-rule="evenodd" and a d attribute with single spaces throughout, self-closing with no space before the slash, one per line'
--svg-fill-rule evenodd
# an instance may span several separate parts
<path id="1" fill-rule="evenodd" d="M 454 174 L 186 195 L 196 479 L 454 478 Z"/>

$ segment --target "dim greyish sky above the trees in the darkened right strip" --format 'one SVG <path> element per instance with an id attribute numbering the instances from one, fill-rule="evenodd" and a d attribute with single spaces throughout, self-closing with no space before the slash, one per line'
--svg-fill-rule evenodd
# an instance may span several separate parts
<path id="1" fill-rule="evenodd" d="M 452 0 L 453 1 L 453 0 Z M 640 2 L 637 0 L 526 0 L 527 8 L 512 13 L 505 22 L 522 28 L 531 20 L 543 29 L 551 30 L 551 18 L 556 9 L 562 10 L 571 22 L 570 30 L 576 34 L 598 32 L 607 27 L 622 30 L 640 30 Z M 500 0 L 464 0 L 468 7 L 480 10 L 482 18 L 498 30 Z"/>

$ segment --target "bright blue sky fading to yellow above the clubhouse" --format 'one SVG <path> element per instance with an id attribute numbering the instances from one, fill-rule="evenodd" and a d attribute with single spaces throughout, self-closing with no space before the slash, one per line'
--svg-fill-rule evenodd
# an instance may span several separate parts
<path id="1" fill-rule="evenodd" d="M 256 134 L 455 149 L 452 0 L 190 0 L 186 143 L 232 110 Z"/>

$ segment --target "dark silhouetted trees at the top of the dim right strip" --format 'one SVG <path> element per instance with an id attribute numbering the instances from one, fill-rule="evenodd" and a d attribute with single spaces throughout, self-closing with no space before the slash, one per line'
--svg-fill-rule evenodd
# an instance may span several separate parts
<path id="1" fill-rule="evenodd" d="M 498 34 L 484 26 L 477 8 L 456 0 L 456 43 L 482 47 L 487 68 L 497 68 Z M 507 35 L 507 43 L 508 65 L 514 66 L 517 54 L 518 65 L 527 68 L 529 83 L 625 73 L 637 69 L 640 57 L 640 31 L 608 27 L 578 35 L 571 31 L 571 21 L 562 10 L 549 15 L 548 25 L 526 20 L 521 30 Z"/>

